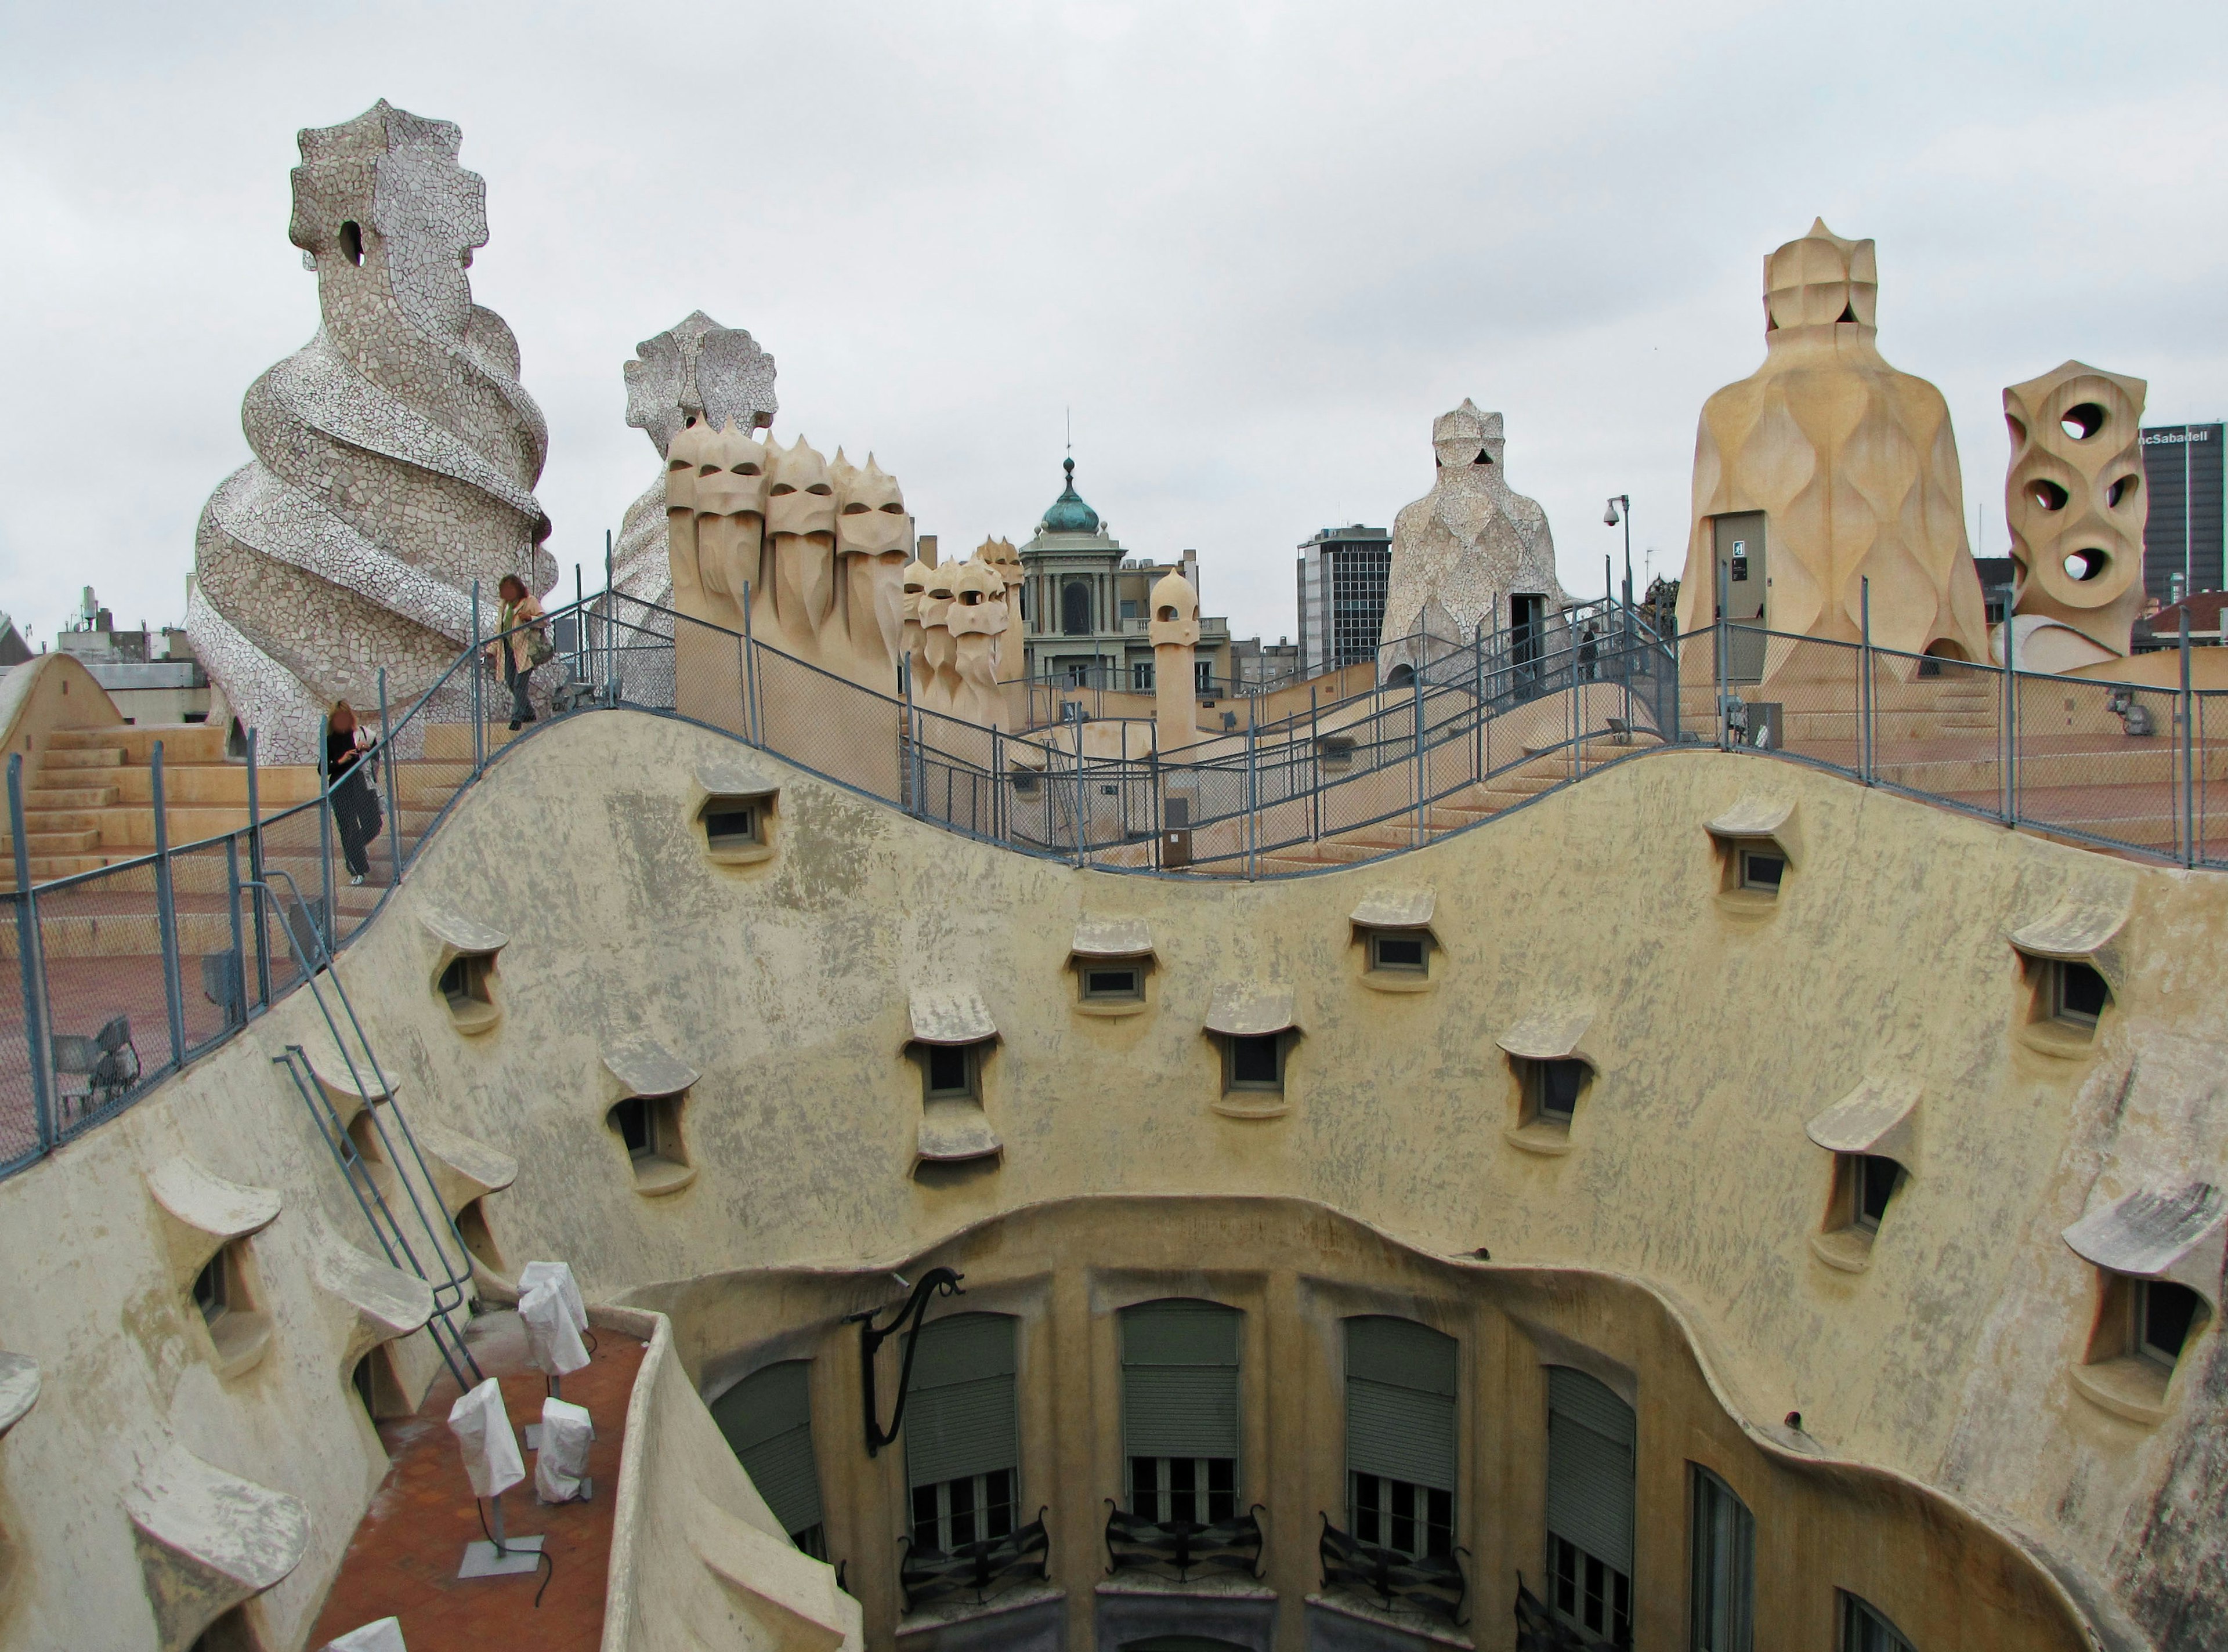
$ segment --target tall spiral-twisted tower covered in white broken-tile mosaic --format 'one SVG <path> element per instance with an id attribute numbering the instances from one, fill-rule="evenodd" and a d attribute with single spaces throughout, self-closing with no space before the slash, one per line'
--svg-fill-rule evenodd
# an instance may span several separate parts
<path id="1" fill-rule="evenodd" d="M 247 390 L 254 461 L 209 496 L 187 632 L 261 755 L 312 761 L 334 699 L 408 704 L 470 641 L 495 586 L 557 583 L 535 501 L 548 432 L 519 345 L 472 303 L 486 183 L 461 131 L 374 105 L 305 129 L 290 238 L 316 336 Z"/>

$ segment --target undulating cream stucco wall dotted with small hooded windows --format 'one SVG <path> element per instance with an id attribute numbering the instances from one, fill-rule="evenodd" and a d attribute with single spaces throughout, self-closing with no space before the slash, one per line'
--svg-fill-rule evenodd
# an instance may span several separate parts
<path id="1" fill-rule="evenodd" d="M 2126 1601 L 2195 1648 L 2219 1621 L 2217 1329 L 2183 1354 L 2163 1425 L 2103 1414 L 2068 1383 L 2097 1285 L 2059 1231 L 2092 1193 L 2168 1169 L 2221 1180 L 2224 879 L 1716 753 L 1624 764 L 1393 864 L 1254 886 L 1025 859 L 746 755 L 782 786 L 778 850 L 715 866 L 688 824 L 695 768 L 735 753 L 633 712 L 517 741 L 341 962 L 412 1118 L 517 1156 L 517 1184 L 483 1204 L 506 1265 L 561 1256 L 590 1298 L 686 1309 L 693 1376 L 760 1329 L 695 1318 L 673 1282 L 878 1267 L 1049 1200 L 1299 1200 L 1421 1253 L 1486 1245 L 1495 1267 L 1629 1278 L 1626 1318 L 1675 1311 L 1736 1418 L 1802 1412 L 1820 1456 L 1967 1503 L 2108 1623 Z M 1760 920 L 1718 902 L 1702 830 L 1745 795 L 1791 802 L 1805 846 Z M 2126 980 L 2094 1051 L 2065 1060 L 2016 1035 L 2005 931 L 2076 882 L 2126 902 Z M 1437 891 L 1430 991 L 1361 982 L 1346 915 L 1384 884 Z M 506 931 L 495 1031 L 450 1026 L 430 908 Z M 1150 924 L 1147 1013 L 1076 1013 L 1085 913 Z M 949 980 L 1000 1029 L 985 1111 L 1005 1151 L 925 1182 L 907 991 Z M 1199 1026 L 1216 982 L 1297 997 L 1281 1118 L 1212 1109 Z M 1593 1011 L 1600 1069 L 1557 1158 L 1504 1138 L 1493 1042 L 1551 1004 Z M 0 1184 L 0 1325 L 47 1371 L 0 1443 L 0 1523 L 29 1561 L 0 1607 L 7 1645 L 71 1643 L 65 1628 L 149 1643 L 116 1587 L 136 1576 L 116 1498 L 169 1438 L 310 1503 L 310 1558 L 263 1603 L 274 1645 L 316 1605 L 381 1465 L 310 1280 L 316 1245 L 370 1236 L 270 1064 L 310 1031 L 290 1002 Z M 702 1071 L 684 1104 L 697 1173 L 664 1198 L 635 1193 L 604 1124 L 599 1058 L 631 1035 Z M 1843 1274 L 1809 1247 L 1829 1156 L 1802 1124 L 1874 1071 L 1921 1080 L 1925 1160 L 1869 1269 Z M 154 1262 L 140 1176 L 183 1151 L 285 1198 L 256 1238 L 274 1345 L 229 1383 Z M 815 1287 L 791 1320 L 824 1311 Z"/>

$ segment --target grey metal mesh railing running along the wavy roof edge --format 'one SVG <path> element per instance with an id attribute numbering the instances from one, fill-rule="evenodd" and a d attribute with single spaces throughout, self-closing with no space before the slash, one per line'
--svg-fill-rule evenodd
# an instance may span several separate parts
<path id="1" fill-rule="evenodd" d="M 1381 848 L 1384 855 L 1401 853 L 1401 848 L 1435 833 L 1464 828 L 1459 822 L 1435 826 L 1426 815 L 1430 806 L 1466 788 L 1484 786 L 1513 768 L 1566 757 L 1560 768 L 1555 761 L 1548 761 L 1535 770 L 1542 777 L 1551 777 L 1551 784 L 1537 793 L 1544 797 L 1600 768 L 1644 755 L 1644 746 L 1611 755 L 1597 753 L 1595 741 L 1602 739 L 1611 717 L 1631 730 L 1624 739 L 1651 735 L 1664 744 L 1680 744 L 1707 737 L 1711 744 L 1749 753 L 1751 744 L 1736 744 L 1733 739 L 1736 730 L 1731 728 L 1729 706 L 1747 706 L 1773 697 L 1787 704 L 1789 717 L 1811 715 L 1811 730 L 1818 728 L 1816 715 L 1825 715 L 1827 726 L 1838 721 L 1849 730 L 1847 737 L 1811 732 L 1805 739 L 1791 739 L 1787 748 L 1767 753 L 1778 761 L 1800 761 L 1849 775 L 1858 784 L 1918 797 L 1981 819 L 1996 819 L 2005 826 L 2043 830 L 2052 837 L 2101 850 L 2183 866 L 2228 864 L 2228 846 L 2212 848 L 2208 844 L 2210 799 L 2206 797 L 2201 775 L 2206 744 L 2197 732 L 2208 692 L 2215 699 L 2228 701 L 2228 690 L 2199 690 L 2188 681 L 2177 690 L 2063 679 L 1992 661 L 1956 661 L 1952 666 L 1880 648 L 1872 641 L 1869 623 L 1863 628 L 1860 641 L 1794 637 L 1718 619 L 1693 632 L 1671 635 L 1655 630 L 1649 619 L 1651 612 L 1629 608 L 1615 599 L 1591 599 L 1548 617 L 1537 628 L 1535 643 L 1524 643 L 1522 648 L 1511 630 L 1479 630 L 1468 643 L 1421 639 L 1417 643 L 1421 659 L 1415 681 L 1348 695 L 1328 706 L 1317 699 L 1306 710 L 1292 710 L 1277 719 L 1263 717 L 1245 730 L 1210 735 L 1208 750 L 1214 755 L 1161 753 L 1147 741 L 1143 757 L 1125 755 L 1105 759 L 1083 750 L 1081 728 L 1020 735 L 976 728 L 974 724 L 929 712 L 913 704 L 902 675 L 898 695 L 882 695 L 811 661 L 789 657 L 769 643 L 751 639 L 749 632 L 726 632 L 717 626 L 704 626 L 671 608 L 613 590 L 561 603 L 544 621 L 535 623 L 548 623 L 553 630 L 566 628 L 564 648 L 559 650 L 559 659 L 568 672 L 566 681 L 584 690 L 593 688 L 593 695 L 573 697 L 573 708 L 577 710 L 624 706 L 700 721 L 675 706 L 675 690 L 680 686 L 673 679 L 675 635 L 693 628 L 706 637 L 726 639 L 726 648 L 713 648 L 709 657 L 726 657 L 731 652 L 733 670 L 742 686 L 737 692 L 744 695 L 746 728 L 742 732 L 733 728 L 720 732 L 775 750 L 800 770 L 820 775 L 831 784 L 885 797 L 885 802 L 934 819 L 956 835 L 1074 864 L 1096 864 L 1105 871 L 1179 875 L 1161 866 L 1156 848 L 1165 815 L 1163 804 L 1170 790 L 1188 795 L 1194 804 L 1190 817 L 1194 848 L 1188 862 L 1192 873 L 1225 877 L 1306 875 L 1308 871 L 1330 871 L 1330 866 L 1301 866 L 1290 857 L 1277 866 L 1263 866 L 1263 857 L 1279 855 L 1299 844 L 1381 828 L 1395 819 L 1410 819 L 1413 830 L 1397 835 L 1397 846 L 1386 844 Z M 1584 626 L 1589 619 L 1600 628 L 1591 657 L 1584 650 Z M 1869 619 L 1869 603 L 1865 603 L 1865 619 Z M 568 626 L 568 621 L 573 623 Z M 365 773 L 365 779 L 379 770 L 388 775 L 385 790 L 390 804 L 397 806 L 397 815 L 401 804 L 397 795 L 399 775 L 408 761 L 417 761 L 403 757 L 405 746 L 419 741 L 419 730 L 448 721 L 448 701 L 470 699 L 468 715 L 477 719 L 479 677 L 472 679 L 475 692 L 463 697 L 457 672 L 477 672 L 477 661 L 483 652 L 515 637 L 517 630 L 521 628 L 512 626 L 492 637 L 475 635 L 472 643 L 441 670 L 430 688 L 414 695 L 399 717 L 390 715 L 385 739 L 372 748 L 374 768 L 361 773 Z M 1780 675 L 1762 688 L 1729 681 L 1727 666 L 1731 661 L 1724 646 L 1733 637 L 1740 637 L 1745 648 L 1753 648 L 1756 659 L 1767 661 L 1767 670 Z M 1684 650 L 1702 641 L 1718 646 L 1713 661 L 1682 657 Z M 1811 659 L 1829 661 L 1829 666 L 1823 672 L 1811 668 L 1787 672 L 1782 666 L 1789 652 L 1805 652 Z M 648 677 L 642 675 L 642 661 L 646 661 Z M 784 737 L 782 732 L 769 737 L 762 724 L 758 681 L 762 670 L 775 668 L 775 661 L 824 712 L 811 719 L 811 732 L 802 737 Z M 1700 670 L 1696 670 L 1698 666 Z M 1950 741 L 1945 755 L 1967 766 L 1996 766 L 2001 788 L 1990 779 L 1985 793 L 1981 786 L 1927 790 L 1921 784 L 1923 775 L 1914 777 L 1905 768 L 1907 761 L 1925 761 L 1925 753 L 1912 750 L 1909 739 L 1887 732 L 1896 728 L 1898 717 L 1909 712 L 1909 706 L 1889 695 L 1885 686 L 1947 670 L 1970 675 L 1978 684 L 1990 686 L 1987 692 L 1974 697 L 1974 704 L 1994 721 L 1994 735 L 1983 735 L 1976 724 L 1974 741 L 1978 741 L 1981 750 L 1963 750 L 1956 741 Z M 1682 681 L 1687 675 L 1693 675 L 1696 681 Z M 644 681 L 651 686 L 644 688 Z M 2083 786 L 2094 790 L 2097 784 L 2065 770 L 2068 766 L 2079 768 L 2081 757 L 2094 755 L 2097 748 L 2079 746 L 2076 741 L 2076 748 L 2061 750 L 2054 744 L 2061 737 L 2045 732 L 2041 717 L 2021 717 L 2025 699 L 2041 692 L 2072 692 L 2074 688 L 2092 697 L 2117 697 L 2119 701 L 2148 708 L 2146 719 L 2154 724 L 2150 732 L 2157 735 L 2157 741 L 2130 744 L 2121 741 L 2117 730 L 2110 730 L 2112 750 L 2148 750 L 2170 764 L 2175 784 L 2166 788 L 2172 793 L 2166 813 L 2172 815 L 2172 844 L 2166 842 L 2163 813 L 2154 822 L 2141 817 L 2148 824 L 2126 828 L 2117 826 L 2112 808 L 2092 813 L 2079 790 Z M 1700 697 L 1704 692 L 1713 697 L 1707 715 L 1691 717 L 1682 712 L 1682 695 Z M 1883 706 L 1883 699 L 1889 704 Z M 1259 710 L 1259 701 L 1254 710 Z M 2121 704 L 2114 704 L 2112 710 L 2121 710 L 2123 717 L 2128 715 Z M 575 710 L 559 710 L 550 721 L 564 715 L 575 715 Z M 2092 708 L 2092 715 L 2101 712 Z M 1147 719 L 1101 721 L 1145 724 Z M 2032 721 L 2032 728 L 2023 726 L 2023 721 Z M 715 724 L 704 726 L 717 728 Z M 388 833 L 388 848 L 381 853 L 381 862 L 392 857 L 397 879 L 408 873 L 432 833 L 463 804 L 466 790 L 486 768 L 501 753 L 517 748 L 517 741 L 512 741 L 499 750 L 479 750 L 477 728 L 479 724 L 475 721 L 475 757 L 468 777 L 446 797 L 432 819 L 414 830 L 414 842 L 408 848 L 403 846 L 399 822 Z M 856 777 L 847 779 L 840 773 L 840 766 L 831 761 L 829 750 L 820 744 L 827 739 L 824 730 L 831 728 L 853 739 L 853 753 L 871 757 L 876 766 L 873 777 L 860 781 Z M 1511 730 L 1517 730 L 1515 750 L 1506 748 Z M 2143 732 L 2132 717 L 2128 717 L 2128 732 L 2130 737 Z M 1134 732 L 1125 732 L 1123 750 L 1134 739 Z M 885 746 L 885 741 L 889 744 Z M 1967 746 L 1974 741 L 1967 741 Z M 1468 750 L 1462 750 L 1464 744 Z M 1036 753 L 1036 764 L 1040 766 L 1018 768 L 1014 761 L 1016 753 Z M 885 768 L 887 777 L 882 775 Z M 13 802 L 20 808 L 22 764 L 13 761 L 9 770 L 16 793 Z M 254 770 L 252 744 L 252 797 L 256 795 Z M 1395 775 L 1393 770 L 1404 773 Z M 1038 779 L 1047 784 L 1038 784 Z M 265 899 L 274 899 L 270 877 L 276 868 L 267 866 L 270 859 L 285 859 L 292 853 L 316 853 L 321 862 L 330 862 L 330 842 L 323 848 L 307 846 L 301 850 L 274 848 L 272 839 L 283 835 L 290 822 L 301 822 L 305 810 L 323 810 L 319 815 L 319 835 L 330 839 L 332 802 L 339 784 L 345 784 L 345 777 L 319 786 L 316 797 L 270 817 L 261 813 L 261 799 L 256 799 L 245 828 L 214 833 L 183 846 L 167 844 L 169 822 L 167 810 L 163 810 L 165 842 L 152 855 L 136 855 L 111 866 L 71 873 L 42 884 L 31 884 L 29 879 L 27 844 L 18 830 L 18 891 L 11 899 L 16 899 L 29 1075 L 16 1082 L 29 1089 L 25 1113 L 27 1133 L 33 1140 L 22 1142 L 11 1160 L 0 1162 L 0 1173 L 33 1162 L 60 1140 L 74 1138 L 123 1111 L 152 1084 L 176 1071 L 180 1060 L 194 1060 L 214 1049 L 254 1015 L 272 1006 L 267 931 L 261 931 L 254 948 L 256 968 L 247 971 L 247 942 L 238 917 L 238 899 L 254 902 L 256 924 L 263 926 L 263 904 Z M 1522 802 L 1508 799 L 1502 799 L 1502 804 L 1508 808 L 1522 806 Z M 1239 822 L 1234 833 L 1228 830 L 1232 822 Z M 1199 837 L 1199 833 L 1212 828 L 1225 828 L 1230 844 Z M 1384 837 L 1377 842 L 1384 842 Z M 229 968 L 236 971 L 238 986 L 229 989 L 225 1000 L 221 1000 L 225 1004 L 223 1026 L 205 1038 L 189 1033 L 180 1044 L 183 1004 L 169 991 L 180 962 L 178 895 L 172 891 L 172 879 L 163 873 L 165 864 L 176 868 L 187 857 L 214 853 L 218 844 L 223 844 L 225 853 L 225 888 L 232 891 Z M 243 844 L 247 850 L 245 879 L 238 875 Z M 74 1122 L 65 1122 L 60 1086 L 53 1082 L 56 1075 L 49 1062 L 53 1038 L 49 1022 L 60 1011 L 49 1002 L 49 993 L 45 991 L 45 926 L 58 922 L 49 913 L 60 911 L 67 915 L 69 897 L 76 891 L 98 886 L 96 879 L 129 884 L 145 875 L 156 875 L 158 879 L 156 906 L 163 920 L 165 964 L 163 1017 L 167 1024 L 165 1031 L 172 1033 L 167 1040 L 169 1053 L 152 1066 L 125 1062 L 129 1078 L 109 1091 L 100 1091 L 96 1102 L 80 1107 Z M 341 908 L 328 899 L 323 904 L 323 933 L 319 937 L 323 953 L 330 957 L 332 951 L 348 944 L 361 924 L 383 908 L 390 893 L 392 882 L 377 891 L 377 904 L 368 913 L 354 913 L 345 924 Z M 49 902 L 51 908 L 47 906 Z M 290 940 L 290 944 L 294 942 Z M 218 951 L 207 948 L 207 955 L 216 957 Z M 225 980 L 229 977 L 225 975 Z M 250 980 L 254 989 L 250 989 Z M 214 997 L 216 989 L 209 991 Z M 194 1042 L 194 1038 L 201 1038 L 201 1042 Z M 136 1049 L 131 1053 L 136 1055 Z M 414 1140 L 410 1149 L 414 1151 Z"/>

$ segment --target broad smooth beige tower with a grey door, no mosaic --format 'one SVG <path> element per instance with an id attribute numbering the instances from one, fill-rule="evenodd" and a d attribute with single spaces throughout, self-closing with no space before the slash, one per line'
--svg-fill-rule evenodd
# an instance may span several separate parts
<path id="1" fill-rule="evenodd" d="M 1765 258 L 1765 365 L 1702 405 L 1680 630 L 1727 619 L 1912 655 L 1985 659 L 1981 577 L 1965 543 L 1950 405 L 1878 352 L 1869 240 L 1825 220 Z M 1729 650 L 1733 681 L 1807 663 L 1773 643 Z M 1709 650 L 1689 652 L 1707 679 Z"/>

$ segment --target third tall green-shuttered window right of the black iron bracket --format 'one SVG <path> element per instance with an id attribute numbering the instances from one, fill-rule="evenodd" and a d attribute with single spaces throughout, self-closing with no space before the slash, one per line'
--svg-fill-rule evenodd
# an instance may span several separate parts
<path id="1" fill-rule="evenodd" d="M 1346 1521 L 1361 1543 L 1455 1554 L 1457 1356 L 1415 1320 L 1346 1320 Z"/>

